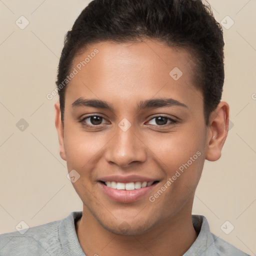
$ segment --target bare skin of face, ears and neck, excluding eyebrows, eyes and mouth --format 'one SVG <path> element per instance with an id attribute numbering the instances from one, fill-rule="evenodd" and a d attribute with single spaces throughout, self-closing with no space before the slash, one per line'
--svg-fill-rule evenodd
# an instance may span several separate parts
<path id="1" fill-rule="evenodd" d="M 68 172 L 75 169 L 80 175 L 72 183 L 83 202 L 83 214 L 76 224 L 78 240 L 87 256 L 182 255 L 197 236 L 191 222 L 194 192 L 204 160 L 220 157 L 229 106 L 221 101 L 205 126 L 202 92 L 192 84 L 191 56 L 183 49 L 148 39 L 106 41 L 77 55 L 73 67 L 95 48 L 98 53 L 67 85 L 64 129 L 59 102 L 55 103 L 60 156 L 66 160 Z M 174 67 L 183 73 L 178 80 L 169 75 Z M 79 97 L 105 100 L 113 109 L 72 108 Z M 173 98 L 187 107 L 137 111 L 137 102 L 152 98 Z M 87 118 L 82 125 L 79 118 L 89 114 L 102 116 L 101 123 L 96 126 Z M 177 122 L 153 118 L 162 115 Z M 118 126 L 123 118 L 131 124 L 127 131 Z M 150 202 L 149 196 L 197 151 L 200 156 Z M 98 179 L 111 174 L 138 174 L 159 182 L 142 198 L 121 203 L 100 189 Z"/>

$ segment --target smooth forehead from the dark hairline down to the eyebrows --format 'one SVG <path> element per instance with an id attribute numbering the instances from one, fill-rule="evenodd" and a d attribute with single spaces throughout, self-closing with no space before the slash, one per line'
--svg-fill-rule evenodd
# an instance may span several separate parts
<path id="1" fill-rule="evenodd" d="M 77 73 L 67 85 L 66 96 L 124 102 L 155 95 L 191 101 L 190 90 L 196 92 L 194 96 L 200 94 L 192 84 L 191 63 L 185 49 L 158 41 L 94 43 L 74 57 L 71 70 Z"/>

